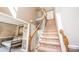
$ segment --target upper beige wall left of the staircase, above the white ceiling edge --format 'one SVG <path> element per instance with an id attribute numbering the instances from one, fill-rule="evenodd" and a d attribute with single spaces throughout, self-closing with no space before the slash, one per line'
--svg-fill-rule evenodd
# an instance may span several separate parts
<path id="1" fill-rule="evenodd" d="M 36 7 L 19 7 L 16 16 L 22 20 L 35 20 L 38 8 Z"/>

